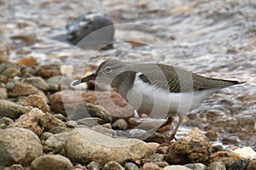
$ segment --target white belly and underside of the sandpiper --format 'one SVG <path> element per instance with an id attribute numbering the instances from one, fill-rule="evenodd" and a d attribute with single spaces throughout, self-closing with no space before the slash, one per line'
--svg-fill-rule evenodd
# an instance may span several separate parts
<path id="1" fill-rule="evenodd" d="M 166 118 L 176 114 L 187 115 L 216 91 L 218 90 L 170 93 L 169 90 L 148 85 L 147 82 L 136 77 L 133 88 L 127 94 L 127 99 L 129 104 L 140 113 Z"/>

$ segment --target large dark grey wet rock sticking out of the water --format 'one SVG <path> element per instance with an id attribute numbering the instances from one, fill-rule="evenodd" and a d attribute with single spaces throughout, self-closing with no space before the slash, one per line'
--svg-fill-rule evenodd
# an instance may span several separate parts
<path id="1" fill-rule="evenodd" d="M 97 45 L 113 41 L 113 22 L 101 13 L 83 14 L 68 22 L 66 28 L 67 41 L 74 45 Z"/>

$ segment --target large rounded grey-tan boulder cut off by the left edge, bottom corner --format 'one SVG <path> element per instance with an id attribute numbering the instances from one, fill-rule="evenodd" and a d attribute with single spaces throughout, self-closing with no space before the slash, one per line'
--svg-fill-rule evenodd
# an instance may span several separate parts
<path id="1" fill-rule="evenodd" d="M 38 136 L 20 127 L 0 129 L 0 165 L 19 163 L 28 166 L 38 156 L 43 155 Z"/>

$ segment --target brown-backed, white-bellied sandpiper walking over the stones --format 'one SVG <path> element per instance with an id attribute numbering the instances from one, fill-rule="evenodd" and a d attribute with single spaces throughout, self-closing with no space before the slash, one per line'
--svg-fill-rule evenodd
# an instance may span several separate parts
<path id="1" fill-rule="evenodd" d="M 102 62 L 95 73 L 73 82 L 73 86 L 90 80 L 116 88 L 138 113 L 168 118 L 163 125 L 172 123 L 172 116 L 178 116 L 177 126 L 170 139 L 175 138 L 177 129 L 189 111 L 197 108 L 219 89 L 243 83 L 202 77 L 171 65 L 131 65 L 118 59 Z"/>

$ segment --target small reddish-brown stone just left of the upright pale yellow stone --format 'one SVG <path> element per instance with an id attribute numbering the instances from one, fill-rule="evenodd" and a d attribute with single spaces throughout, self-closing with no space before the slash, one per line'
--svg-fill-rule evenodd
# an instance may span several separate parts
<path id="1" fill-rule="evenodd" d="M 43 78 L 61 76 L 59 65 L 42 65 L 38 68 L 37 74 Z"/>

